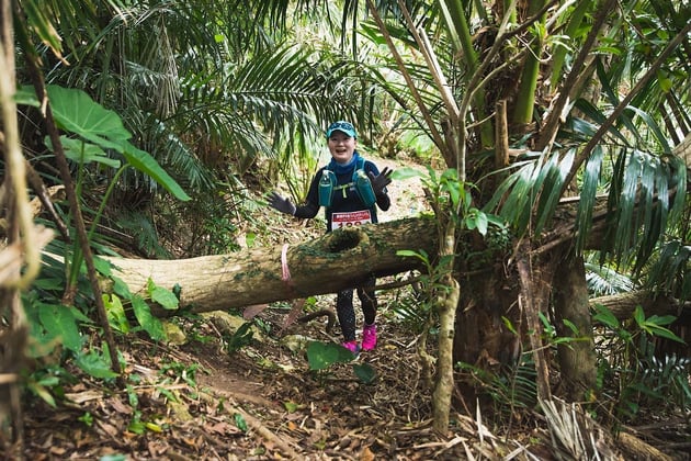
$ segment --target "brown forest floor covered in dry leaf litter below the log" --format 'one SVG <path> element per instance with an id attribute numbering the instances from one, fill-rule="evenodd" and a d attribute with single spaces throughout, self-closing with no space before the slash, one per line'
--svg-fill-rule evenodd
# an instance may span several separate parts
<path id="1" fill-rule="evenodd" d="M 400 165 L 390 160 L 377 164 L 380 168 Z M 419 181 L 394 183 L 389 189 L 394 206 L 382 217 L 404 217 L 424 207 Z M 293 231 L 308 233 L 299 224 Z M 282 231 L 283 235 L 290 232 Z M 340 342 L 340 331 L 338 327 L 327 331 L 321 319 L 286 326 L 287 302 L 258 314 L 252 338 L 247 340 L 228 333 L 242 324 L 241 312 L 174 319 L 186 336 L 180 345 L 163 346 L 129 335 L 120 344 L 126 387 L 104 385 L 69 368 L 75 376 L 66 379 L 71 384 L 61 390 L 57 407 L 38 398 L 24 407 L 24 457 L 107 461 L 557 459 L 544 418 L 530 409 L 509 411 L 511 418 L 506 413 L 484 414 L 471 411 L 456 395 L 449 432 L 440 436 L 432 430 L 431 391 L 420 368 L 419 335 L 398 308 L 411 295 L 409 288 L 382 292 L 377 348 L 361 353 L 353 363 L 321 371 L 309 369 L 305 344 Z M 314 308 L 331 307 L 333 296 L 311 302 Z M 236 326 L 227 330 L 233 318 Z M 359 322 L 362 325 L 361 317 Z M 373 382 L 359 379 L 353 364 L 369 364 L 376 373 Z M 679 430 L 678 425 L 683 424 L 658 421 L 646 432 L 646 440 L 665 450 L 661 434 Z M 601 431 L 593 436 L 612 446 Z M 669 447 L 667 451 L 670 459 L 688 459 Z M 601 459 L 632 458 L 610 451 Z"/>

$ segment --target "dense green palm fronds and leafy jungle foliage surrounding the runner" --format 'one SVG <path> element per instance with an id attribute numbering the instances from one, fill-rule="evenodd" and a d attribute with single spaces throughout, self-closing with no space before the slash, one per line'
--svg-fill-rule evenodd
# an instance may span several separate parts
<path id="1" fill-rule="evenodd" d="M 337 119 L 355 122 L 361 143 L 382 153 L 426 146 L 417 155 L 443 171 L 430 176 L 442 184 L 431 200 L 445 245 L 441 258 L 429 257 L 429 299 L 438 302 L 430 311 L 455 315 L 462 293 L 454 273 L 467 269 L 461 249 L 472 235 L 486 245 L 477 231 L 492 223 L 510 233 L 511 251 L 501 248 L 507 259 L 542 255 L 560 235 L 573 243 L 571 255 L 618 276 L 610 289 L 646 288 L 681 303 L 691 297 L 689 154 L 675 150 L 691 133 L 688 2 L 2 5 L 3 30 L 13 23 L 15 33 L 9 42 L 3 36 L 0 63 L 12 69 L 0 77 L 3 185 L 14 192 L 2 203 L 7 248 L 38 248 L 26 215 L 26 169 L 68 194 L 54 216 L 41 220 L 60 234 L 47 250 L 68 262 L 50 259 L 38 274 L 38 255 L 30 249 L 24 272 L 12 267 L 2 280 L 3 329 L 29 326 L 38 356 L 60 337 L 92 376 L 114 379 L 120 358 L 107 346 L 109 331 L 127 328 L 115 314 L 120 301 L 103 305 L 94 280 L 83 277 L 97 269 L 107 274 L 91 252 L 115 246 L 144 257 L 190 257 L 237 249 L 261 193 L 281 182 L 295 200 L 305 196 L 324 154 L 322 130 Z M 575 196 L 575 209 L 564 212 L 563 202 Z M 593 233 L 602 233 L 597 248 L 589 246 Z M 619 283 L 622 276 L 626 283 Z M 174 293 L 150 289 L 151 300 L 175 304 Z M 117 294 L 132 302 L 135 328 L 159 339 L 143 300 Z M 669 389 L 688 407 L 688 361 L 659 359 L 643 333 L 634 339 L 607 313 L 596 317 L 625 350 L 623 362 L 600 357 L 598 378 L 628 373 L 621 405 L 608 416 L 631 417 L 642 395 L 659 402 Z M 434 318 L 446 326 L 442 337 L 453 339 L 455 317 Z M 642 312 L 634 317 L 643 330 L 650 327 L 645 321 Z M 667 335 L 667 321 L 654 318 L 664 329 L 648 336 Z M 102 347 L 80 356 L 86 341 L 100 339 Z M 440 367 L 451 379 L 452 368 L 471 368 L 450 360 Z M 521 356 L 519 364 L 517 373 L 530 371 L 512 384 L 530 382 L 541 367 L 537 356 Z M 473 372 L 492 384 L 492 397 L 513 400 L 509 391 L 523 389 L 487 370 Z M 47 389 L 59 387 L 45 370 L 26 379 L 46 400 L 53 398 Z M 448 425 L 448 414 L 439 418 L 438 428 Z"/>

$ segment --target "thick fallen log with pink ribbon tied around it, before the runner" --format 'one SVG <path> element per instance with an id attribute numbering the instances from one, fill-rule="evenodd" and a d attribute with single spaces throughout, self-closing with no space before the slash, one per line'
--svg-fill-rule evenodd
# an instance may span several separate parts
<path id="1" fill-rule="evenodd" d="M 435 223 L 416 217 L 332 232 L 310 241 L 189 259 L 104 258 L 133 293 L 148 280 L 172 290 L 180 306 L 195 313 L 307 297 L 358 286 L 370 273 L 390 276 L 419 269 L 418 258 L 398 250 L 435 252 Z M 155 311 L 163 315 L 162 310 Z"/>

